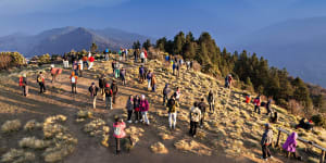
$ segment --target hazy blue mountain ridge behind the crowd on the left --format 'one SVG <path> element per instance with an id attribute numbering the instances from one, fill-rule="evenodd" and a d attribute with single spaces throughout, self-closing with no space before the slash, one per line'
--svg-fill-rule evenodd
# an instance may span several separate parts
<path id="1" fill-rule="evenodd" d="M 117 50 L 120 47 L 130 48 L 135 40 L 143 42 L 148 37 L 127 33 L 114 28 L 89 29 L 84 27 L 62 27 L 28 36 L 13 34 L 0 37 L 0 51 L 18 51 L 25 57 L 36 54 L 62 54 L 74 50 L 89 50 L 96 42 L 99 50 L 109 48 Z"/>

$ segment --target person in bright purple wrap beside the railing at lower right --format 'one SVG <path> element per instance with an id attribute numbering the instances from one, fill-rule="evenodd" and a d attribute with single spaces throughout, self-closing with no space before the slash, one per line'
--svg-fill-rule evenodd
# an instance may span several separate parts
<path id="1" fill-rule="evenodd" d="M 287 152 L 287 156 L 290 156 L 290 153 L 294 156 L 294 159 L 302 160 L 301 156 L 298 155 L 296 152 L 297 148 L 297 139 L 298 139 L 298 134 L 293 131 L 288 138 L 287 141 L 283 145 L 283 149 Z"/>

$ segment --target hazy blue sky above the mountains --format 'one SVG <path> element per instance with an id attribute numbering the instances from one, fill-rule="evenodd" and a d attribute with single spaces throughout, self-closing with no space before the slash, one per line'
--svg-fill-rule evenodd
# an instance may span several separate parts
<path id="1" fill-rule="evenodd" d="M 0 0 L 0 36 L 64 26 L 154 38 L 210 32 L 223 45 L 287 20 L 326 16 L 325 0 Z"/>

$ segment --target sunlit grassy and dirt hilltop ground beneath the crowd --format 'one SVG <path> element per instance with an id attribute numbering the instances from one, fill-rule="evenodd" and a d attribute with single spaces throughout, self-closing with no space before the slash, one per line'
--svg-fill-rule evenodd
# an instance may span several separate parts
<path id="1" fill-rule="evenodd" d="M 112 78 L 111 61 L 98 61 L 93 70 L 85 71 L 78 80 L 77 95 L 71 93 L 70 70 L 65 70 L 53 84 L 49 80 L 48 67 L 26 70 L 30 83 L 27 98 L 21 96 L 17 73 L 2 75 L 1 162 L 262 162 L 259 159 L 260 139 L 268 116 L 253 113 L 253 105 L 243 102 L 247 92 L 225 89 L 215 78 L 185 68 L 176 77 L 156 60 L 147 64 L 158 78 L 156 92 L 150 92 L 146 84 L 138 83 L 139 64 L 130 61 L 124 62 L 124 66 L 127 68 L 127 85 L 120 85 L 118 100 L 112 111 L 104 109 L 102 97 L 98 97 L 97 109 L 91 109 L 87 90 L 92 82 L 98 83 L 100 74 Z M 49 91 L 46 95 L 38 93 L 36 70 L 47 71 Z M 168 129 L 167 112 L 162 105 L 162 90 L 166 83 L 174 90 L 181 88 L 181 104 L 174 131 Z M 204 127 L 199 129 L 197 138 L 189 137 L 189 109 L 195 101 L 205 98 L 209 90 L 216 95 L 216 111 L 206 114 Z M 129 95 L 148 97 L 151 125 L 127 124 L 127 133 L 136 145 L 130 147 L 125 140 L 123 154 L 115 155 L 112 123 L 115 115 L 126 117 L 125 103 Z M 292 131 L 300 117 L 276 105 L 273 108 L 280 113 L 279 122 L 273 124 L 276 140 L 277 127 Z M 325 130 L 297 131 L 299 136 L 326 147 Z M 281 142 L 285 139 L 283 134 Z M 316 154 L 321 151 L 303 143 L 299 143 L 298 150 L 304 162 L 318 161 Z M 268 162 L 296 162 L 286 159 L 278 148 L 272 153 L 274 159 Z"/>

